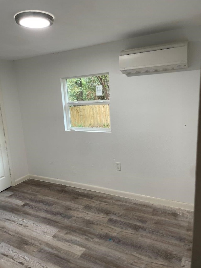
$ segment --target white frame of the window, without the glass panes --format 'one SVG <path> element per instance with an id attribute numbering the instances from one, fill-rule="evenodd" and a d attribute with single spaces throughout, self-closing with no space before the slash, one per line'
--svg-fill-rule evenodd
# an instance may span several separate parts
<path id="1" fill-rule="evenodd" d="M 65 77 L 61 79 L 61 88 L 62 88 L 62 103 L 63 103 L 63 115 L 64 115 L 64 127 L 67 131 L 89 131 L 89 132 L 106 132 L 111 133 L 111 118 L 110 118 L 110 128 L 82 128 L 82 127 L 71 127 L 70 124 L 70 109 L 69 106 L 80 106 L 80 105 L 100 105 L 100 104 L 108 104 L 110 106 L 110 100 L 96 100 L 96 101 L 68 101 L 68 89 L 67 89 L 67 79 L 71 78 L 82 78 L 82 77 L 90 77 L 97 75 L 105 75 L 109 73 L 103 74 L 91 74 L 91 75 L 83 75 L 83 76 L 73 76 L 73 77 Z"/>

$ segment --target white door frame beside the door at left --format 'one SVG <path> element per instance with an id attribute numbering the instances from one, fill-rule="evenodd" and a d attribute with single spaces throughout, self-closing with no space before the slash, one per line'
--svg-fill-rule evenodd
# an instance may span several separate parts
<path id="1" fill-rule="evenodd" d="M 9 140 L 8 140 L 8 128 L 7 128 L 7 123 L 6 123 L 6 114 L 4 110 L 4 105 L 3 105 L 3 94 L 2 94 L 2 89 L 1 89 L 1 81 L 0 81 L 0 112 L 1 112 L 1 117 L 2 117 L 2 122 L 3 122 L 3 128 L 5 132 L 5 143 L 6 143 L 6 151 L 7 151 L 7 156 L 8 156 L 8 166 L 10 169 L 10 178 L 11 178 L 11 183 L 12 186 L 15 186 L 15 179 L 14 179 L 14 172 L 13 172 L 13 165 L 12 165 L 12 160 L 11 160 L 11 151 L 10 151 L 10 145 L 9 145 Z"/>

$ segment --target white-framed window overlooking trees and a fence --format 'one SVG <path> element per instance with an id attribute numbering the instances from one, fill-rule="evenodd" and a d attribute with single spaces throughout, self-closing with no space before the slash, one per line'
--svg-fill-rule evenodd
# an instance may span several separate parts
<path id="1" fill-rule="evenodd" d="M 62 79 L 65 130 L 111 132 L 109 74 Z"/>

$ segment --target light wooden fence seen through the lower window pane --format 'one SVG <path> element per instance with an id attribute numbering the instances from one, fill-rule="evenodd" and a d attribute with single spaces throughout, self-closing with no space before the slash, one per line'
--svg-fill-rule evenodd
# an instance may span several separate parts
<path id="1" fill-rule="evenodd" d="M 69 108 L 72 127 L 110 127 L 110 108 L 108 104 L 82 105 Z"/>

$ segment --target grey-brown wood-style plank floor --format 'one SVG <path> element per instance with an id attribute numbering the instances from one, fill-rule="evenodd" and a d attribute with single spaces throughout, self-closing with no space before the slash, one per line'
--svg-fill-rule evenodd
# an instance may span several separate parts
<path id="1" fill-rule="evenodd" d="M 27 180 L 0 193 L 0 268 L 190 268 L 193 212 Z"/>

